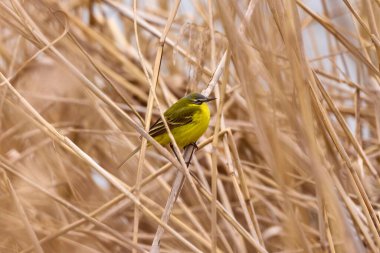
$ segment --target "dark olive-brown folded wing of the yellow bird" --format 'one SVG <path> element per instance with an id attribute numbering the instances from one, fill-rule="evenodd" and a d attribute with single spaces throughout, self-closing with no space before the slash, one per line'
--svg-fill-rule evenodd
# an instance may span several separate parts
<path id="1" fill-rule="evenodd" d="M 171 108 L 169 108 L 164 114 L 169 129 L 172 130 L 173 128 L 189 124 L 193 120 L 193 114 L 196 110 L 198 109 L 186 106 L 177 110 L 171 110 Z M 166 133 L 165 124 L 162 119 L 159 118 L 151 126 L 149 135 L 156 137 L 163 133 Z"/>

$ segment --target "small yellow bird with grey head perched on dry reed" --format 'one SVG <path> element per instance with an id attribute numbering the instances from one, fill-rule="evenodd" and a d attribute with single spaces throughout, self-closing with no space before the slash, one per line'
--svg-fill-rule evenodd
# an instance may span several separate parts
<path id="1" fill-rule="evenodd" d="M 210 122 L 210 110 L 207 102 L 214 99 L 199 93 L 191 93 L 175 102 L 165 111 L 164 117 L 179 148 L 186 147 L 189 144 L 195 145 L 195 142 L 207 130 Z M 149 135 L 161 145 L 170 144 L 172 147 L 169 134 L 161 118 L 150 127 Z M 133 150 L 124 163 L 136 154 L 140 148 L 141 146 Z"/>

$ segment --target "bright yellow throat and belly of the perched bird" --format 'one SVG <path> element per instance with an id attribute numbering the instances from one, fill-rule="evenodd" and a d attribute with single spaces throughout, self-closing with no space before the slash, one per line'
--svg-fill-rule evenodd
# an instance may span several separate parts
<path id="1" fill-rule="evenodd" d="M 171 130 L 178 147 L 183 148 L 193 142 L 196 142 L 207 130 L 210 122 L 210 110 L 206 103 L 199 106 L 199 110 L 194 113 L 191 123 L 173 128 Z M 170 138 L 167 133 L 154 137 L 161 145 L 168 145 Z"/>

